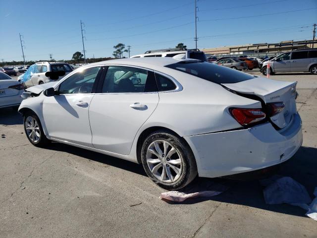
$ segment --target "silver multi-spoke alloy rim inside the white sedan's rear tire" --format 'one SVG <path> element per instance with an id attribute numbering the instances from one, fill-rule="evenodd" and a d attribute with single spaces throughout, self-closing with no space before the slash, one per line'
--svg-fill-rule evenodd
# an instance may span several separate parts
<path id="1" fill-rule="evenodd" d="M 182 174 L 181 157 L 177 149 L 165 140 L 152 142 L 147 149 L 146 159 L 153 176 L 162 182 L 174 182 Z"/>

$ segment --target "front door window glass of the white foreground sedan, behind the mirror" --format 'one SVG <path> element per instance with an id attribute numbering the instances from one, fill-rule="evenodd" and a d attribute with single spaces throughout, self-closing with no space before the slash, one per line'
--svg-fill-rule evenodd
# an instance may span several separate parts
<path id="1" fill-rule="evenodd" d="M 99 70 L 92 67 L 69 76 L 59 85 L 59 94 L 91 93 Z"/>

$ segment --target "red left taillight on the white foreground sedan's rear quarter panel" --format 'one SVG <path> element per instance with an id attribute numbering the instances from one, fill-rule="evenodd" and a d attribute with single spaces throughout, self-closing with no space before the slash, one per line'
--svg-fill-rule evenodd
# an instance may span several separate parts
<path id="1" fill-rule="evenodd" d="M 234 119 L 244 126 L 265 119 L 262 109 L 234 108 L 230 112 Z"/>

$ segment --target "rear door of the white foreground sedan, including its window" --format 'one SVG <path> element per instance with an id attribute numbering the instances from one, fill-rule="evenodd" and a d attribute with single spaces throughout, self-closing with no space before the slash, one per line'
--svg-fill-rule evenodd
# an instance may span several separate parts
<path id="1" fill-rule="evenodd" d="M 138 130 L 158 103 L 152 71 L 132 66 L 108 66 L 103 86 L 89 108 L 94 147 L 128 155 Z"/>

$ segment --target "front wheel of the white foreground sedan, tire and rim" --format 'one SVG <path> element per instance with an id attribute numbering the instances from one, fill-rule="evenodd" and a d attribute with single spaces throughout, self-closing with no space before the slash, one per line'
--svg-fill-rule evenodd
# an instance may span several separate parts
<path id="1" fill-rule="evenodd" d="M 35 113 L 27 112 L 24 114 L 23 127 L 26 137 L 34 146 L 45 147 L 50 142 L 45 136 L 41 121 Z M 32 128 L 31 132 L 27 128 Z"/>

